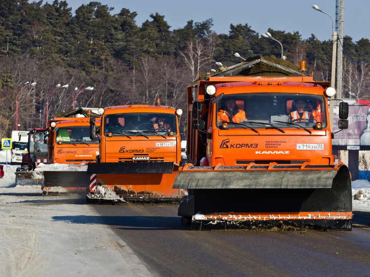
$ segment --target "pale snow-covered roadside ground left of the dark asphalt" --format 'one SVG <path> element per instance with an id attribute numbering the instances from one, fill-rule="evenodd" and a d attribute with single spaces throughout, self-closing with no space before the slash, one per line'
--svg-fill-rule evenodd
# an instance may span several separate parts
<path id="1" fill-rule="evenodd" d="M 43 196 L 15 185 L 10 151 L 0 151 L 0 276 L 153 276 L 101 220 L 85 195 Z"/>

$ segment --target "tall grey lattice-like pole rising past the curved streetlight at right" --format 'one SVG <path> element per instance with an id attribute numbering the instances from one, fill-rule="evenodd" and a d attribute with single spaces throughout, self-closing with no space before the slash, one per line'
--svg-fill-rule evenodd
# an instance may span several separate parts
<path id="1" fill-rule="evenodd" d="M 341 99 L 343 95 L 343 9 L 344 0 L 336 0 L 336 30 L 338 32 L 337 45 L 337 99 Z"/>

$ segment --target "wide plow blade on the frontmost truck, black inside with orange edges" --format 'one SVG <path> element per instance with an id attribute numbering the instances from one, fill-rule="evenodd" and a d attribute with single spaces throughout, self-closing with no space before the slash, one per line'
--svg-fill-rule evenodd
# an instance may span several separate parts
<path id="1" fill-rule="evenodd" d="M 174 188 L 189 189 L 179 216 L 192 229 L 352 228 L 344 165 L 185 166 Z"/>

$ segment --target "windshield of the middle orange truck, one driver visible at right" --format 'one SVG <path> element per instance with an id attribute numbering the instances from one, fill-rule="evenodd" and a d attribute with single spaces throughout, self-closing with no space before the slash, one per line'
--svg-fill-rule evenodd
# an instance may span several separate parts
<path id="1" fill-rule="evenodd" d="M 172 113 L 120 113 L 108 114 L 104 117 L 104 135 L 145 136 L 177 134 L 176 116 Z"/>

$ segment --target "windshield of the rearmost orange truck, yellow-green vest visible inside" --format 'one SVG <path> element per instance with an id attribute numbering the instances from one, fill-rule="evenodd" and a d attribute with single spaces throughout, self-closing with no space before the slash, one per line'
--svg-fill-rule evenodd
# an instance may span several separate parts
<path id="1" fill-rule="evenodd" d="M 81 143 L 91 144 L 99 143 L 99 139 L 90 139 L 90 127 L 89 126 L 73 126 L 73 127 L 59 127 L 56 131 L 56 142 L 57 143 Z"/>

